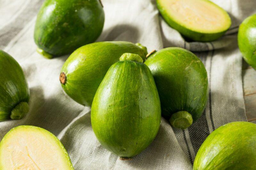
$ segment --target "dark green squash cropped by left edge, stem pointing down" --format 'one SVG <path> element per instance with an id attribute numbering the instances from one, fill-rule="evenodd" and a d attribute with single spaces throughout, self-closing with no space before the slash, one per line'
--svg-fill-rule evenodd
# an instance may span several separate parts
<path id="1" fill-rule="evenodd" d="M 29 89 L 19 63 L 0 50 L 0 121 L 20 119 L 29 110 Z"/>

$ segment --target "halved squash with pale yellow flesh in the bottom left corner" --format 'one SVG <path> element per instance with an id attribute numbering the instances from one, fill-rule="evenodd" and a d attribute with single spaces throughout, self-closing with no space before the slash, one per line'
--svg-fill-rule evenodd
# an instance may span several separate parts
<path id="1" fill-rule="evenodd" d="M 12 128 L 0 142 L 0 169 L 74 170 L 56 136 L 43 128 L 26 125 Z"/>

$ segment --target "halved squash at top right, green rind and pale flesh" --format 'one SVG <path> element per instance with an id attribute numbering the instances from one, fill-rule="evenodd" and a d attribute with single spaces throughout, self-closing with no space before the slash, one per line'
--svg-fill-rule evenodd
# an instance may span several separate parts
<path id="1" fill-rule="evenodd" d="M 156 0 L 164 20 L 193 41 L 213 41 L 231 26 L 226 11 L 208 0 Z"/>

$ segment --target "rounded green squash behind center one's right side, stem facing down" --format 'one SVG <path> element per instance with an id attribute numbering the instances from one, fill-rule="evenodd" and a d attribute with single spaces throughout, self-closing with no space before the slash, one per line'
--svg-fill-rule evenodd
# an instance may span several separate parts
<path id="1" fill-rule="evenodd" d="M 208 99 L 204 64 L 195 54 L 178 47 L 152 54 L 145 64 L 154 76 L 162 115 L 174 127 L 189 127 L 202 115 Z"/>

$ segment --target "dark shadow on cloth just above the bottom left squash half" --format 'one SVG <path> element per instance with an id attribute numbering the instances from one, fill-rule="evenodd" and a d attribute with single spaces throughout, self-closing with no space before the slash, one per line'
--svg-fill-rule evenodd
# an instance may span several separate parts
<path id="1" fill-rule="evenodd" d="M 20 120 L 21 124 L 39 126 L 57 136 L 81 111 L 76 109 L 76 105 L 70 107 L 71 99 L 65 98 L 51 96 L 46 99 L 42 87 L 30 88 L 30 110 Z"/>

